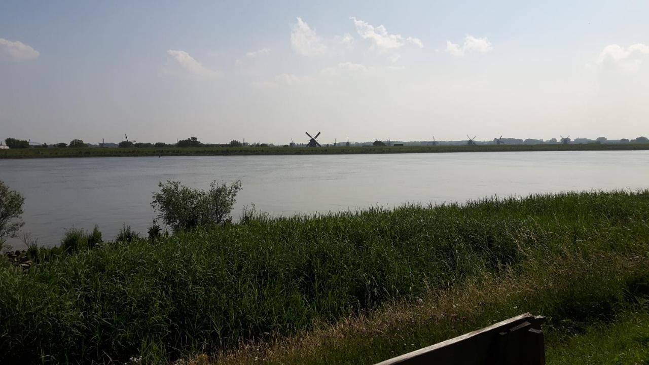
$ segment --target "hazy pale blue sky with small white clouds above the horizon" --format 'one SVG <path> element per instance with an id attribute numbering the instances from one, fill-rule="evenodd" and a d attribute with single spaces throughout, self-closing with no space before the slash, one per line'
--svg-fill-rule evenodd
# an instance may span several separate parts
<path id="1" fill-rule="evenodd" d="M 0 3 L 0 138 L 649 136 L 649 1 Z"/>

